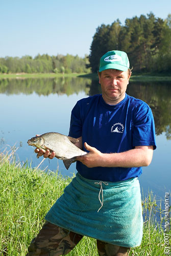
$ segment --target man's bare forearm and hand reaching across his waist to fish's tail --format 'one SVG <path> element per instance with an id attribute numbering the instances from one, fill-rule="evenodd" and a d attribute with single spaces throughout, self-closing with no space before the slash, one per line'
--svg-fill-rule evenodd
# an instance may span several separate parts
<path id="1" fill-rule="evenodd" d="M 153 158 L 153 146 L 135 146 L 122 153 L 104 154 L 95 147 L 84 144 L 89 154 L 77 157 L 87 167 L 139 167 L 148 166 Z"/>

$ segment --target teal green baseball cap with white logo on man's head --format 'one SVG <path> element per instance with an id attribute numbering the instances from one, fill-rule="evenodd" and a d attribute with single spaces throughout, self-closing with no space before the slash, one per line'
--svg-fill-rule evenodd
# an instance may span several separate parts
<path id="1" fill-rule="evenodd" d="M 106 69 L 118 69 L 127 71 L 130 67 L 130 62 L 126 52 L 109 51 L 101 57 L 99 72 Z"/>

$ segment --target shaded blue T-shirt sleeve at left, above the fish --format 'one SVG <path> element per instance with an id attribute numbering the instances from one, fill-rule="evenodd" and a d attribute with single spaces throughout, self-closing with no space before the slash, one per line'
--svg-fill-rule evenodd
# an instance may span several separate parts
<path id="1" fill-rule="evenodd" d="M 71 111 L 69 136 L 73 138 L 79 138 L 82 136 L 82 121 L 78 102 Z"/>

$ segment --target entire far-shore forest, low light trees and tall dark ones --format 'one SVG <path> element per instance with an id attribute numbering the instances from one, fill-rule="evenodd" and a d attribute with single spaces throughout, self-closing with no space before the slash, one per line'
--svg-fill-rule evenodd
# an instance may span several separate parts
<path id="1" fill-rule="evenodd" d="M 38 54 L 0 58 L 0 73 L 94 73 L 100 57 L 107 51 L 121 50 L 128 54 L 134 72 L 169 73 L 171 71 L 171 14 L 166 19 L 146 16 L 119 19 L 96 29 L 89 56 Z"/>

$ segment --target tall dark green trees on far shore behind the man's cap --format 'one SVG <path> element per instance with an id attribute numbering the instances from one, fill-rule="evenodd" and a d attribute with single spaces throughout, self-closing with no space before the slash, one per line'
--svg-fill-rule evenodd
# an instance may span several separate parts
<path id="1" fill-rule="evenodd" d="M 165 20 L 153 13 L 127 18 L 124 26 L 119 19 L 111 25 L 102 24 L 90 47 L 88 67 L 92 72 L 99 69 L 100 57 L 111 50 L 127 52 L 136 72 L 170 72 L 171 14 Z"/>

